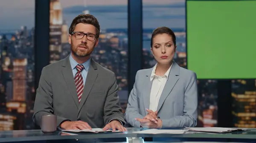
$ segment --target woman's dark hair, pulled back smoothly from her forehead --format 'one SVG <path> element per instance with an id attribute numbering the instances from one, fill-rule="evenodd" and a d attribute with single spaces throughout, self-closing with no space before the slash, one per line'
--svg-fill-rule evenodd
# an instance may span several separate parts
<path id="1" fill-rule="evenodd" d="M 174 42 L 174 45 L 176 45 L 176 36 L 175 36 L 174 32 L 172 31 L 172 29 L 170 29 L 168 27 L 158 27 L 153 31 L 153 33 L 151 35 L 151 42 L 150 42 L 151 47 L 153 45 L 153 38 L 155 36 L 157 36 L 158 34 L 170 35 L 172 37 L 172 41 Z"/>

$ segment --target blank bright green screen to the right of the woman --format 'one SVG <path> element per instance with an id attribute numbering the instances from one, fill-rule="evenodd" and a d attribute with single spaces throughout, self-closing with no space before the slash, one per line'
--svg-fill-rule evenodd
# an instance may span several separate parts
<path id="1" fill-rule="evenodd" d="M 187 0 L 187 65 L 198 79 L 256 78 L 256 0 Z"/>

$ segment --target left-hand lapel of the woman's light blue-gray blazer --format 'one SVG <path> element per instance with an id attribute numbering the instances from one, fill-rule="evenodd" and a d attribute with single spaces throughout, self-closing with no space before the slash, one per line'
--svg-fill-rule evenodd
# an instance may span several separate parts
<path id="1" fill-rule="evenodd" d="M 145 84 L 144 84 L 144 92 L 143 92 L 143 101 L 144 101 L 144 107 L 145 109 L 149 109 L 149 101 L 150 101 L 150 92 L 151 92 L 151 87 L 152 87 L 152 81 L 150 81 L 150 76 L 152 73 L 153 68 L 148 69 L 148 73 L 146 73 L 146 77 L 145 77 Z M 145 111 L 145 115 L 147 115 L 146 110 Z"/>

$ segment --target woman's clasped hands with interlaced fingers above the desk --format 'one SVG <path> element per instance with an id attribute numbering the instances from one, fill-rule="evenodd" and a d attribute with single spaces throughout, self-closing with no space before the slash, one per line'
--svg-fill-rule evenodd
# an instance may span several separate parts
<path id="1" fill-rule="evenodd" d="M 157 119 L 156 122 L 150 121 L 148 119 L 140 119 L 136 118 L 135 120 L 140 122 L 140 125 L 143 128 L 148 128 L 148 129 L 161 129 L 162 128 L 162 120 Z"/>

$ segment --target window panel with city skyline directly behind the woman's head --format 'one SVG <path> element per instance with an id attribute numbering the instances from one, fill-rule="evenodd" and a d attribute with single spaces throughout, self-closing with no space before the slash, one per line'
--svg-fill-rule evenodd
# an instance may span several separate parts
<path id="1" fill-rule="evenodd" d="M 175 32 L 175 62 L 186 68 L 185 0 L 143 0 L 143 69 L 156 64 L 150 51 L 153 30 L 166 26 Z"/>

